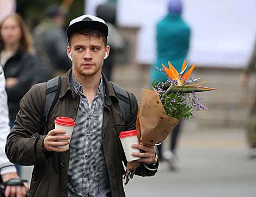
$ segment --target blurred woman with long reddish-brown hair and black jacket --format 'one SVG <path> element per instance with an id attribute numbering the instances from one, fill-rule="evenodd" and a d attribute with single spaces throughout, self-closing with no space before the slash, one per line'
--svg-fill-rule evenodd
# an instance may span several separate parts
<path id="1" fill-rule="evenodd" d="M 40 67 L 34 56 L 32 36 L 25 22 L 17 14 L 5 17 L 0 23 L 0 65 L 5 74 L 12 128 L 20 110 L 20 100 L 34 84 Z M 43 73 L 40 74 L 43 76 Z"/>

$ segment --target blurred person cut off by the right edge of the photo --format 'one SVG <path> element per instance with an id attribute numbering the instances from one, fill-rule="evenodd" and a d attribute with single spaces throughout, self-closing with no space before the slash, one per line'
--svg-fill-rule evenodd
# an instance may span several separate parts
<path id="1" fill-rule="evenodd" d="M 251 60 L 246 68 L 246 72 L 242 75 L 242 86 L 248 85 L 249 74 L 256 71 L 256 41 Z M 256 84 L 254 84 L 253 102 L 247 121 L 247 140 L 249 145 L 249 158 L 256 158 Z"/>

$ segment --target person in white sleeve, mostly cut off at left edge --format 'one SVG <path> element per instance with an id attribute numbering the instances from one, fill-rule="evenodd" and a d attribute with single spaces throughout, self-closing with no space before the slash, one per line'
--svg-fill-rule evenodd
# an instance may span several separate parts
<path id="1" fill-rule="evenodd" d="M 7 93 L 5 92 L 5 78 L 3 68 L 0 66 L 0 173 L 3 182 L 7 182 L 11 179 L 20 179 L 20 177 L 17 175 L 14 164 L 10 163 L 4 152 L 6 137 L 9 134 L 9 131 L 10 126 Z M 26 188 L 25 186 L 7 186 L 5 188 L 5 196 L 26 196 L 27 189 L 28 187 Z"/>

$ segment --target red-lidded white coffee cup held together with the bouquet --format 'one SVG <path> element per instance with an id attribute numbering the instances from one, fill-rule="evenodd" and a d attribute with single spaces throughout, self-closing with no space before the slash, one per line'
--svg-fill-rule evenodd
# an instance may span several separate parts
<path id="1" fill-rule="evenodd" d="M 132 152 L 140 152 L 139 149 L 132 148 L 132 144 L 139 144 L 137 130 L 122 131 L 119 138 L 123 145 L 124 153 L 127 161 L 138 160 L 141 157 L 132 156 Z"/>

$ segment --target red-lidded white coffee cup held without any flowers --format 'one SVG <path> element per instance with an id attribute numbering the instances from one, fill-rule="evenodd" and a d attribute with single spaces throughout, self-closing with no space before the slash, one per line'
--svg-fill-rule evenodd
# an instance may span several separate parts
<path id="1" fill-rule="evenodd" d="M 65 136 L 70 136 L 71 137 L 74 126 L 75 126 L 74 119 L 68 118 L 68 117 L 57 117 L 54 120 L 54 123 L 55 123 L 55 129 L 62 129 L 62 130 L 66 131 L 66 134 L 58 134 L 59 136 L 60 135 L 63 135 L 63 136 L 65 135 Z M 59 140 L 58 142 L 66 142 L 66 141 L 70 142 L 70 139 Z M 69 147 L 69 144 L 62 145 L 62 146 L 59 146 L 57 148 L 67 148 L 67 147 Z"/>

